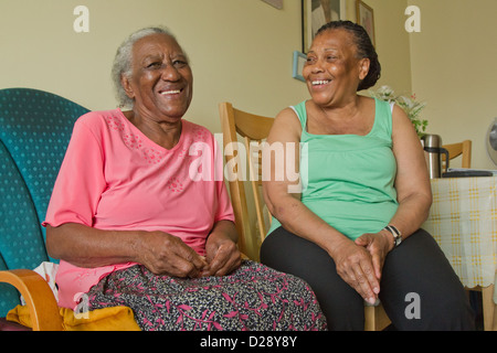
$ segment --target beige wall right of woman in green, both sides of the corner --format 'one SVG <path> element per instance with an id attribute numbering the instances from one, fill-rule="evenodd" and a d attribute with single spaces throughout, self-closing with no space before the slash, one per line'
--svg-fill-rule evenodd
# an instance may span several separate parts
<path id="1" fill-rule="evenodd" d="M 486 133 L 497 117 L 495 0 L 363 0 L 374 11 L 383 76 L 399 94 L 427 103 L 429 133 L 444 143 L 473 141 L 473 168 L 497 169 L 487 156 Z M 355 0 L 348 0 L 355 17 Z M 421 32 L 404 30 L 408 6 L 421 10 Z M 352 12 L 351 12 L 352 11 Z M 453 163 L 461 167 L 461 159 Z"/>

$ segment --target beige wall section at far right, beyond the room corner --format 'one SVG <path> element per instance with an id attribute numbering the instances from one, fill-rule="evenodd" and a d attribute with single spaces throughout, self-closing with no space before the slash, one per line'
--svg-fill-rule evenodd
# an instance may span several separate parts
<path id="1" fill-rule="evenodd" d="M 409 3 L 422 13 L 421 32 L 411 34 L 412 85 L 427 101 L 430 132 L 444 143 L 473 140 L 472 167 L 496 169 L 485 140 L 497 117 L 497 1 Z"/>

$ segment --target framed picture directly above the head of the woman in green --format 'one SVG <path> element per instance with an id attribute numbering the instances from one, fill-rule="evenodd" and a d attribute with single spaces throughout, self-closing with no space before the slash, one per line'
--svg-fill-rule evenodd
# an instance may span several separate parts
<path id="1" fill-rule="evenodd" d="M 302 0 L 302 51 L 307 53 L 321 25 L 345 20 L 346 0 Z"/>

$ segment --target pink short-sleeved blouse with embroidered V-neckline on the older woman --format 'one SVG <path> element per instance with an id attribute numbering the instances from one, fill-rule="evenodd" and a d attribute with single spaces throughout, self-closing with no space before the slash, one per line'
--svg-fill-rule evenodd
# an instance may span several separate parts
<path id="1" fill-rule="evenodd" d="M 119 109 L 88 113 L 74 126 L 43 226 L 162 231 L 204 255 L 214 223 L 234 221 L 219 154 L 213 135 L 187 120 L 167 150 Z M 103 277 L 133 265 L 81 268 L 61 260 L 59 304 L 74 309 Z"/>

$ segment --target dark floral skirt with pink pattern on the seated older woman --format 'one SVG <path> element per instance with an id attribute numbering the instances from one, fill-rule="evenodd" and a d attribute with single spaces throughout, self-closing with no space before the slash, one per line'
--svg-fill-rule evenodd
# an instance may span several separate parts
<path id="1" fill-rule="evenodd" d="M 316 296 L 302 279 L 243 260 L 223 277 L 157 276 L 136 265 L 89 290 L 89 310 L 126 306 L 144 331 L 326 330 Z"/>

